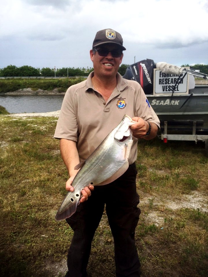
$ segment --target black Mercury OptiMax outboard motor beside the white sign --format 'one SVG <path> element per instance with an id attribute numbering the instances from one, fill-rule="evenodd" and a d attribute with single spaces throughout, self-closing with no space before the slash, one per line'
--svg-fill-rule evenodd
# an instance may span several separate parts
<path id="1" fill-rule="evenodd" d="M 153 94 L 153 78 L 156 64 L 151 59 L 138 61 L 127 67 L 123 78 L 140 83 L 145 94 Z"/>

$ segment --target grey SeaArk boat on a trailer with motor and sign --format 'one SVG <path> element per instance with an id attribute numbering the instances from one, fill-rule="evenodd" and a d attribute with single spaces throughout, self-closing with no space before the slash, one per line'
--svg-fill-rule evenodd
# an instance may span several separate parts
<path id="1" fill-rule="evenodd" d="M 146 59 L 129 65 L 123 78 L 140 83 L 159 117 L 158 136 L 169 140 L 203 141 L 208 151 L 208 85 L 194 77 L 208 75 L 190 68 Z"/>

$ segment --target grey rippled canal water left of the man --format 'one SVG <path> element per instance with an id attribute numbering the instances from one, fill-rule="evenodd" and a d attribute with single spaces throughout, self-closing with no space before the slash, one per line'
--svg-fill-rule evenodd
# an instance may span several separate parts
<path id="1" fill-rule="evenodd" d="M 9 113 L 47 113 L 61 108 L 64 95 L 1 95 L 0 106 Z"/>

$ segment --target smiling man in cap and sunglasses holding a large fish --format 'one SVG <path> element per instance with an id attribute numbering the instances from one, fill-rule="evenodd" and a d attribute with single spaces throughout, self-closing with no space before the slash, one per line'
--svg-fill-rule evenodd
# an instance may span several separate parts
<path id="1" fill-rule="evenodd" d="M 116 276 L 140 276 L 134 239 L 141 212 L 136 192 L 137 142 L 156 136 L 159 119 L 140 85 L 118 74 L 123 50 L 126 48 L 120 33 L 112 29 L 96 33 L 90 50 L 94 72 L 66 91 L 54 134 L 60 139 L 60 151 L 70 176 L 66 189 L 73 191 L 71 184 L 77 173 L 74 167 L 88 158 L 124 114 L 137 122 L 131 126 L 134 138 L 127 171 L 110 184 L 82 190 L 77 211 L 66 219 L 74 231 L 67 260 L 69 277 L 87 276 L 91 242 L 104 205 L 114 237 Z"/>

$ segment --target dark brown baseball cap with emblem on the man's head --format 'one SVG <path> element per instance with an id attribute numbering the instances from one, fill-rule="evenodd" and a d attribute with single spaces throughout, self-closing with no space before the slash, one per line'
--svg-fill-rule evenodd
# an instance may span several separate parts
<path id="1" fill-rule="evenodd" d="M 103 29 L 96 33 L 94 38 L 92 48 L 105 43 L 114 43 L 120 46 L 122 50 L 126 50 L 123 46 L 123 39 L 120 33 L 112 30 L 112 29 Z"/>

